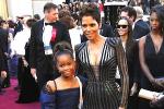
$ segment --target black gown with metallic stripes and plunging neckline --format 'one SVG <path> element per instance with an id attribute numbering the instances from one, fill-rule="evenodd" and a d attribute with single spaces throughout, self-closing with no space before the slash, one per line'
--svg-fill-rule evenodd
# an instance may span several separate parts
<path id="1" fill-rule="evenodd" d="M 129 84 L 126 58 L 121 51 L 124 49 L 120 39 L 107 38 L 103 46 L 102 56 L 99 56 L 99 64 L 94 66 L 91 64 L 87 41 L 75 47 L 79 73 L 84 72 L 82 75 L 87 77 L 84 109 L 118 109 L 120 105 L 126 106 Z M 121 71 L 122 95 L 118 92 L 115 82 L 117 64 Z"/>

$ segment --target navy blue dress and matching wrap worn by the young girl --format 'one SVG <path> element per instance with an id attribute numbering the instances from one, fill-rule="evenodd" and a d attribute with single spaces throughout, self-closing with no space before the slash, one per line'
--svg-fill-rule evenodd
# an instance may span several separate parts
<path id="1" fill-rule="evenodd" d="M 82 92 L 85 92 L 87 80 L 79 76 L 82 83 Z M 55 83 L 56 85 L 56 83 Z M 57 87 L 56 87 L 57 88 Z M 43 88 L 40 93 L 42 109 L 79 109 L 80 87 L 67 88 L 48 93 Z"/>

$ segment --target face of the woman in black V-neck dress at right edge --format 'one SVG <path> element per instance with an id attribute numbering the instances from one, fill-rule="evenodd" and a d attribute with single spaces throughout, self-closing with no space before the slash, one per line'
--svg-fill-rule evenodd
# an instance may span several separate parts
<path id="1" fill-rule="evenodd" d="M 152 29 L 159 29 L 160 28 L 160 22 L 157 19 L 157 14 L 153 12 L 150 16 L 150 25 Z"/>

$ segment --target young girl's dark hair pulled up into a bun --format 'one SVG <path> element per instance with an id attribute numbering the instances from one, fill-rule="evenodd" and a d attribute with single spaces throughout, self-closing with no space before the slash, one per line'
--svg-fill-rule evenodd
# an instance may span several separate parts
<path id="1" fill-rule="evenodd" d="M 55 49 L 54 49 L 54 60 L 55 60 L 55 62 L 57 62 L 57 58 L 61 55 L 69 55 L 73 59 L 73 50 L 72 50 L 70 44 L 68 44 L 66 41 L 62 41 L 62 43 L 58 43 L 55 46 Z"/>

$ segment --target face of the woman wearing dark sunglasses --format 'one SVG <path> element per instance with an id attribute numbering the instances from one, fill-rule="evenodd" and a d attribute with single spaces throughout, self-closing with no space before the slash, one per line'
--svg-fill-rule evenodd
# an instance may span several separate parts
<path id="1" fill-rule="evenodd" d="M 128 22 L 127 20 L 120 20 L 117 25 L 119 36 L 128 35 Z"/>

